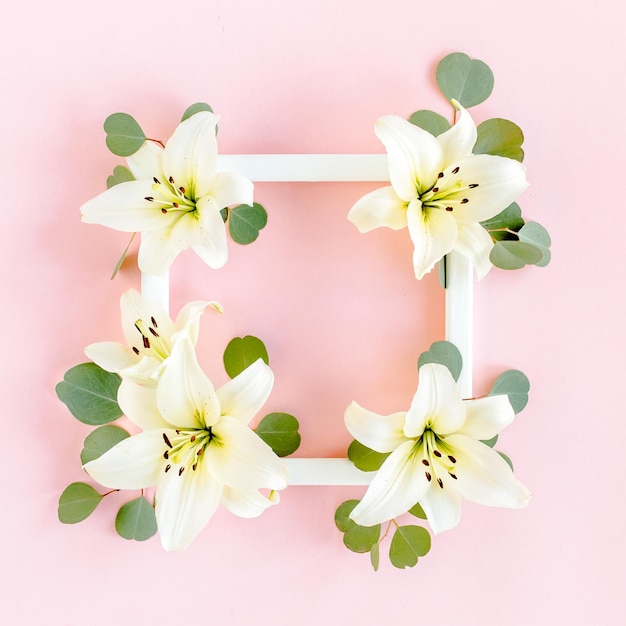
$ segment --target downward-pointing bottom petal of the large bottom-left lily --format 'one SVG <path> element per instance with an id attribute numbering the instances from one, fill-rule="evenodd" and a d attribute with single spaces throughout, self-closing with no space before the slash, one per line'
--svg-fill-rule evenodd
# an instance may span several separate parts
<path id="1" fill-rule="evenodd" d="M 207 525 L 222 496 L 222 483 L 207 471 L 161 472 L 156 517 L 166 550 L 185 550 Z"/>

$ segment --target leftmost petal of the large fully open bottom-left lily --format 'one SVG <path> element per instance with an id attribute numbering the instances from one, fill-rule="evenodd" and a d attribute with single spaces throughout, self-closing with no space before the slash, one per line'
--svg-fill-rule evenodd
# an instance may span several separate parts
<path id="1" fill-rule="evenodd" d="M 111 489 L 144 489 L 156 485 L 163 468 L 163 433 L 147 431 L 128 437 L 83 469 Z"/>

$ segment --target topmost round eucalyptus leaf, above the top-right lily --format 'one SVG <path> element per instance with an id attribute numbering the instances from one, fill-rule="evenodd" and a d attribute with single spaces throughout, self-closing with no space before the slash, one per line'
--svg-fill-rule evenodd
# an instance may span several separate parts
<path id="1" fill-rule="evenodd" d="M 493 73 L 489 67 L 462 52 L 453 52 L 439 62 L 436 79 L 441 93 L 465 108 L 484 102 L 493 90 Z"/>

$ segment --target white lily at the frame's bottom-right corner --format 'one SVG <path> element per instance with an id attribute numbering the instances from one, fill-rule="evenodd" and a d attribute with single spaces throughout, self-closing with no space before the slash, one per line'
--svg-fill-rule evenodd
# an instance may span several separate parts
<path id="1" fill-rule="evenodd" d="M 377 415 L 353 402 L 345 413 L 350 433 L 377 452 L 391 452 L 352 511 L 373 526 L 406 513 L 419 502 L 435 533 L 461 519 L 461 498 L 487 506 L 522 508 L 530 492 L 504 459 L 481 440 L 513 421 L 506 395 L 462 400 L 443 365 L 419 370 L 408 412 Z"/>

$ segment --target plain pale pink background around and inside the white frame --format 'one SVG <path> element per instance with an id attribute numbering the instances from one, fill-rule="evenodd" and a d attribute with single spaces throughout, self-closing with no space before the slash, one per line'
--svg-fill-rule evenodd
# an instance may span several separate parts
<path id="1" fill-rule="evenodd" d="M 614 1 L 384 2 L 59 0 L 3 14 L 2 272 L 4 579 L 7 624 L 621 624 L 626 435 L 623 186 L 624 10 Z M 176 8 L 175 8 L 176 7 Z M 185 553 L 117 537 L 128 494 L 76 526 L 57 501 L 84 480 L 89 428 L 56 399 L 90 342 L 121 339 L 108 279 L 126 235 L 78 208 L 119 163 L 101 128 L 114 111 L 167 138 L 192 102 L 222 114 L 220 150 L 382 152 L 384 113 L 449 109 L 434 86 L 451 51 L 496 75 L 478 121 L 526 134 L 528 219 L 552 233 L 546 269 L 492 272 L 476 294 L 477 392 L 507 368 L 531 379 L 501 438 L 533 492 L 522 511 L 466 504 L 413 570 L 375 574 L 333 514 L 361 488 L 291 487 L 259 520 L 226 512 Z M 173 310 L 217 298 L 203 361 L 220 383 L 234 335 L 264 339 L 276 373 L 268 410 L 302 423 L 302 456 L 342 456 L 343 410 L 408 407 L 415 359 L 443 337 L 436 276 L 411 275 L 406 232 L 359 235 L 345 219 L 372 185 L 258 185 L 270 222 L 230 246 L 219 272 L 191 254 Z"/>

